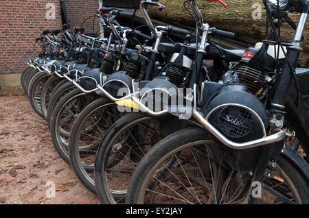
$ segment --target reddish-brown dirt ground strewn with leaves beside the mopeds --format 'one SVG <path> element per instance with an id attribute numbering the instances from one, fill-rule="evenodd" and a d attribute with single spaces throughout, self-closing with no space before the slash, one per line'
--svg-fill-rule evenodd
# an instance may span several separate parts
<path id="1" fill-rule="evenodd" d="M 99 203 L 58 156 L 27 97 L 0 96 L 0 204 Z"/>

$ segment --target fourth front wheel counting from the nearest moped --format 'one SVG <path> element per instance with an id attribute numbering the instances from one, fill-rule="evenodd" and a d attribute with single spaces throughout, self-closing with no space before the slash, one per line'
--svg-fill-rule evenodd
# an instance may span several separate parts
<path id="1" fill-rule="evenodd" d="M 67 164 L 69 164 L 69 136 L 71 133 L 71 127 L 73 125 L 73 122 L 75 121 L 76 117 L 82 110 L 91 103 L 97 97 L 95 94 L 86 94 L 82 93 L 78 88 L 75 88 L 71 90 L 69 93 L 67 93 L 64 97 L 60 99 L 56 107 L 54 108 L 54 111 L 52 113 L 52 117 L 50 120 L 50 126 L 49 131 L 51 133 L 52 142 L 54 144 L 54 147 L 56 151 L 58 152 L 59 156 L 62 158 L 62 160 L 65 160 Z M 82 101 L 82 104 L 79 104 L 78 102 Z M 65 114 L 65 110 L 67 110 L 67 107 L 69 108 L 70 112 Z M 67 115 L 65 124 L 60 123 L 60 119 L 62 116 Z M 66 116 L 65 116 L 66 117 Z M 61 127 L 60 127 L 61 125 Z M 62 128 L 62 132 L 60 131 Z"/>

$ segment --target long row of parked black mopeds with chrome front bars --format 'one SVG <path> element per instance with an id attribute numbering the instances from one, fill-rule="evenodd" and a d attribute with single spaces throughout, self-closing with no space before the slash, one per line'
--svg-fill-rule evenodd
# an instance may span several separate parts
<path id="1" fill-rule="evenodd" d="M 266 132 L 282 60 L 265 43 L 216 45 L 211 37 L 234 34 L 209 27 L 196 1 L 186 3 L 196 32 L 153 25 L 147 6 L 164 6 L 148 0 L 139 10 L 150 31 L 120 25 L 135 12 L 103 7 L 100 33 L 66 24 L 36 38 L 41 53 L 21 84 L 59 156 L 102 204 L 308 204 L 308 180 L 287 158 L 300 146 L 293 128 Z M 264 71 L 249 64 L 262 50 L 273 61 Z M 285 150 L 261 162 L 262 145 L 282 141 Z"/>

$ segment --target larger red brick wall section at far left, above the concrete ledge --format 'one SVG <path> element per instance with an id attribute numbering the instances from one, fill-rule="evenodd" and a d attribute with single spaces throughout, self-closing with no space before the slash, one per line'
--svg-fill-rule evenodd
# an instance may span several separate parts
<path id="1" fill-rule="evenodd" d="M 55 5 L 52 20 L 46 19 L 47 3 Z M 37 56 L 34 39 L 44 29 L 61 26 L 58 0 L 0 0 L 0 74 L 21 73 L 25 62 Z"/>

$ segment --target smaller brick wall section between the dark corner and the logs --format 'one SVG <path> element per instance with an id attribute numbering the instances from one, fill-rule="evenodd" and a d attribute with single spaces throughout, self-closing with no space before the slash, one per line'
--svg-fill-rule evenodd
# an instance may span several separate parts
<path id="1" fill-rule="evenodd" d="M 95 15 L 95 10 L 99 8 L 98 0 L 65 0 L 67 14 L 71 27 L 81 26 L 85 19 Z M 93 32 L 93 18 L 84 22 L 85 32 Z M 100 31 L 100 23 L 97 18 L 94 21 L 95 32 Z"/>

